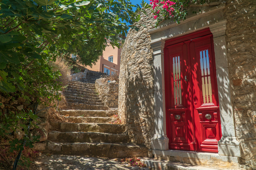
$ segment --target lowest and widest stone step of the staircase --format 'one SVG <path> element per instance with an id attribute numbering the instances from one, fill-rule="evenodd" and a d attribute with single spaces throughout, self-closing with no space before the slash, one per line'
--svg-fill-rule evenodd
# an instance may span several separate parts
<path id="1" fill-rule="evenodd" d="M 104 158 L 148 156 L 148 148 L 133 143 L 57 143 L 49 140 L 36 143 L 35 149 L 44 153 L 87 155 Z"/>

